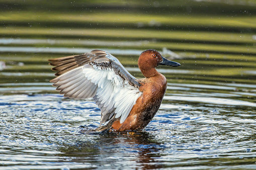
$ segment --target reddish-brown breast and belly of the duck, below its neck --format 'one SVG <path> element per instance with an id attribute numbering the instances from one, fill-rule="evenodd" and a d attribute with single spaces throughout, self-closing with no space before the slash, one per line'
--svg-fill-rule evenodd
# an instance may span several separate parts
<path id="1" fill-rule="evenodd" d="M 138 81 L 141 84 L 139 90 L 143 94 L 137 99 L 127 119 L 122 124 L 118 120 L 113 123 L 112 128 L 118 131 L 144 128 L 160 107 L 167 87 L 165 77 L 159 74 Z"/>

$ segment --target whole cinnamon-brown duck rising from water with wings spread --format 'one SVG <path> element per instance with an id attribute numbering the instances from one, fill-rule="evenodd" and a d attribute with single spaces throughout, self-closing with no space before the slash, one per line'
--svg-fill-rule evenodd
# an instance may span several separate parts
<path id="1" fill-rule="evenodd" d="M 138 58 L 145 78 L 132 76 L 108 52 L 93 50 L 81 55 L 48 60 L 57 77 L 50 80 L 59 94 L 72 99 L 93 98 L 101 110 L 96 131 L 136 131 L 146 127 L 160 107 L 167 88 L 158 65 L 181 66 L 148 49 Z M 104 125 L 107 122 L 106 125 Z"/>

